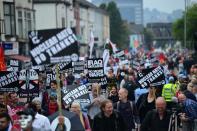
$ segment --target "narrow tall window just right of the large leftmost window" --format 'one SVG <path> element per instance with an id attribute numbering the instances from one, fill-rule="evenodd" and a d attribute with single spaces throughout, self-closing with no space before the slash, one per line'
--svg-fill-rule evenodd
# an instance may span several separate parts
<path id="1" fill-rule="evenodd" d="M 23 38 L 23 14 L 22 11 L 18 11 L 18 36 Z"/>

